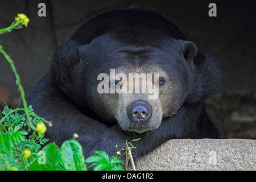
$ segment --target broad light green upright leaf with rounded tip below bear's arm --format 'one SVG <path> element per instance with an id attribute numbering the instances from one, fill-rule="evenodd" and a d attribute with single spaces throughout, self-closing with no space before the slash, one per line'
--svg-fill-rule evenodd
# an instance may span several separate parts
<path id="1" fill-rule="evenodd" d="M 60 159 L 68 171 L 86 171 L 82 146 L 77 140 L 67 140 L 60 147 Z"/>

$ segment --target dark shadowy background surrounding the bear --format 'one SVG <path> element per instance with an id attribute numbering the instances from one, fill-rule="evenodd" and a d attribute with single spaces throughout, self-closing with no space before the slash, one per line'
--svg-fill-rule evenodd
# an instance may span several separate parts
<path id="1" fill-rule="evenodd" d="M 46 3 L 46 17 L 38 4 Z M 217 5 L 209 17 L 208 5 Z M 228 138 L 256 139 L 256 5 L 251 1 L 36 1 L 1 0 L 0 28 L 24 13 L 28 27 L 0 35 L 0 44 L 15 61 L 25 93 L 49 70 L 57 45 L 71 36 L 82 22 L 113 7 L 152 7 L 170 18 L 199 51 L 212 55 L 222 68 L 222 89 L 207 101 L 207 111 Z M 10 107 L 19 104 L 19 93 L 10 65 L 0 55 L 0 98 Z"/>

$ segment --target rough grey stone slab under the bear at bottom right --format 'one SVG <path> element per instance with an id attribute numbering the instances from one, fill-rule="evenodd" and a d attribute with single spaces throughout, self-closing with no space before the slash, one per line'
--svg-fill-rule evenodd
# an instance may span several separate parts
<path id="1" fill-rule="evenodd" d="M 137 170 L 256 170 L 256 140 L 173 139 L 139 158 Z M 130 168 L 131 169 L 131 168 Z"/>

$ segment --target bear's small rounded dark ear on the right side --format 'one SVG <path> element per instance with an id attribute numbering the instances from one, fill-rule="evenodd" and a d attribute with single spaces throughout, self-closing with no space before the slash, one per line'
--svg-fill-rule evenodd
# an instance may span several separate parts
<path id="1" fill-rule="evenodd" d="M 197 53 L 197 47 L 194 43 L 186 41 L 186 40 L 180 40 L 182 43 L 182 55 L 186 60 L 193 60 Z"/>

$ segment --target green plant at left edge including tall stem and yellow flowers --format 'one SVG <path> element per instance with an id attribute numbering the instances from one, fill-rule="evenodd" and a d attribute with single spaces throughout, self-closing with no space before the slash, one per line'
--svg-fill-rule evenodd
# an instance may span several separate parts
<path id="1" fill-rule="evenodd" d="M 28 22 L 29 19 L 26 15 L 18 14 L 9 27 L 0 29 L 0 34 L 10 32 L 13 29 L 22 28 L 22 25 L 27 26 Z M 36 152 L 39 151 L 41 145 L 49 140 L 44 138 L 43 133 L 39 131 L 38 135 L 36 135 L 36 125 L 42 122 L 49 122 L 38 117 L 38 115 L 34 113 L 32 106 L 27 107 L 24 89 L 20 83 L 20 77 L 14 66 L 14 61 L 3 50 L 1 45 L 0 52 L 11 65 L 11 69 L 16 78 L 16 85 L 20 92 L 20 98 L 24 106 L 24 108 L 12 110 L 6 105 L 5 109 L 0 113 L 0 169 L 27 169 L 27 164 L 35 158 Z M 18 114 L 17 111 L 20 110 L 24 111 L 24 114 Z M 28 139 L 26 139 L 28 132 L 24 130 L 25 127 L 28 128 L 28 131 L 31 131 L 31 129 L 34 131 Z"/>

